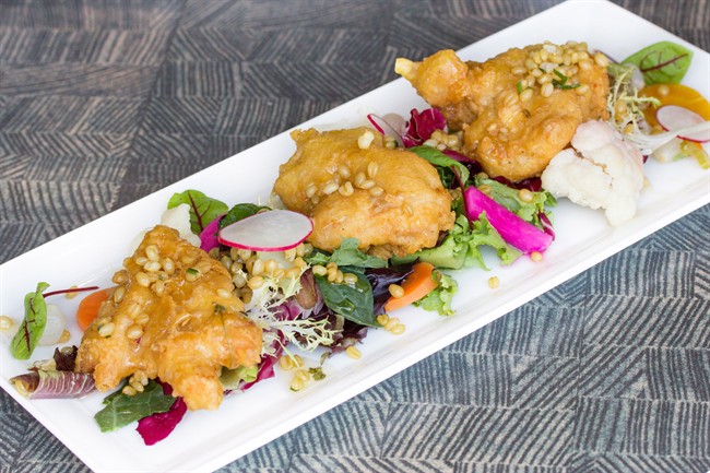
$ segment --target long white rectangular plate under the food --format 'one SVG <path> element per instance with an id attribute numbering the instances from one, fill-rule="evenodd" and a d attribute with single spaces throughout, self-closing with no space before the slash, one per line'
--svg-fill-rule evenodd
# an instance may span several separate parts
<path id="1" fill-rule="evenodd" d="M 570 1 L 473 44 L 460 51 L 464 59 L 485 60 L 513 46 L 549 39 L 585 40 L 615 58 L 624 58 L 643 46 L 667 39 L 694 50 L 693 66 L 684 83 L 707 91 L 710 56 L 607 2 Z M 362 97 L 323 114 L 299 128 L 357 126 L 367 111 L 406 116 L 413 107 L 424 107 L 404 80 L 397 80 Z M 139 230 L 153 226 L 176 191 L 200 189 L 228 204 L 267 199 L 279 164 L 294 145 L 286 132 L 223 161 L 180 182 L 57 238 L 0 267 L 0 314 L 22 317 L 22 299 L 37 281 L 52 288 L 73 284 L 108 285 L 110 275 L 127 256 L 129 243 Z M 0 386 L 95 471 L 211 471 L 273 440 L 322 414 L 357 393 L 387 379 L 417 360 L 521 306 L 569 277 L 604 260 L 616 251 L 655 232 L 710 201 L 710 173 L 691 159 L 646 167 L 650 186 L 643 190 L 638 215 L 612 228 L 602 212 L 560 202 L 555 210 L 557 240 L 534 264 L 525 259 L 493 272 L 480 270 L 455 274 L 461 287 L 454 300 L 454 317 L 398 314 L 406 323 L 405 334 L 393 338 L 370 331 L 358 362 L 336 356 L 326 366 L 328 377 L 299 393 L 287 389 L 285 376 L 256 386 L 244 394 L 225 400 L 217 412 L 188 413 L 164 441 L 145 447 L 133 428 L 100 434 L 93 416 L 100 409 L 102 394 L 80 401 L 34 401 L 17 395 L 9 385 L 12 376 L 24 373 L 27 363 L 8 354 L 9 336 L 2 346 Z M 580 230 L 581 229 L 581 230 Z M 490 275 L 501 286 L 487 288 Z M 57 303 L 52 300 L 52 303 Z M 60 301 L 64 314 L 73 314 L 76 301 Z M 80 342 L 74 328 L 71 343 Z M 34 358 L 49 357 L 51 350 L 38 350 Z"/>

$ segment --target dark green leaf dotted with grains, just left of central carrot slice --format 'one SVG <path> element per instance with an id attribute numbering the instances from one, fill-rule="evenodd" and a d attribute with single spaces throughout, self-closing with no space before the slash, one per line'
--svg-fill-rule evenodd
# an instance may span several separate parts
<path id="1" fill-rule="evenodd" d="M 334 314 L 360 326 L 380 327 L 374 314 L 372 287 L 367 277 L 355 271 L 355 284 L 331 283 L 327 277 L 316 275 L 316 284 L 326 306 Z"/>

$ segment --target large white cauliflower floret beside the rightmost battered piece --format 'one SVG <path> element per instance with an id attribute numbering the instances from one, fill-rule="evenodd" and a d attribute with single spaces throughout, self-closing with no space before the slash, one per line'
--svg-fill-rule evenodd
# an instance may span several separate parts
<path id="1" fill-rule="evenodd" d="M 580 125 L 571 144 L 573 150 L 559 152 L 543 172 L 543 188 L 556 198 L 604 209 L 613 226 L 634 217 L 644 182 L 641 152 L 604 121 Z"/>

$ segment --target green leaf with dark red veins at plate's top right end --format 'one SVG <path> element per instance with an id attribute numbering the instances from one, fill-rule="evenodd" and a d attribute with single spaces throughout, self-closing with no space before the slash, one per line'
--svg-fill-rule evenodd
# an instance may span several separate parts
<path id="1" fill-rule="evenodd" d="M 671 42 L 660 42 L 622 61 L 639 68 L 647 85 L 679 83 L 690 67 L 693 51 Z"/>

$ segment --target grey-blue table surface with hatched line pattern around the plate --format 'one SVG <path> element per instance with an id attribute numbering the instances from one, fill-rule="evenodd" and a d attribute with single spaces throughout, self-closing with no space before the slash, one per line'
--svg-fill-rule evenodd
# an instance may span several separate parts
<path id="1" fill-rule="evenodd" d="M 555 3 L 0 0 L 0 262 Z M 617 3 L 710 49 L 706 0 Z M 223 471 L 708 472 L 709 229 L 705 206 Z M 0 392 L 0 472 L 85 470 Z"/>

